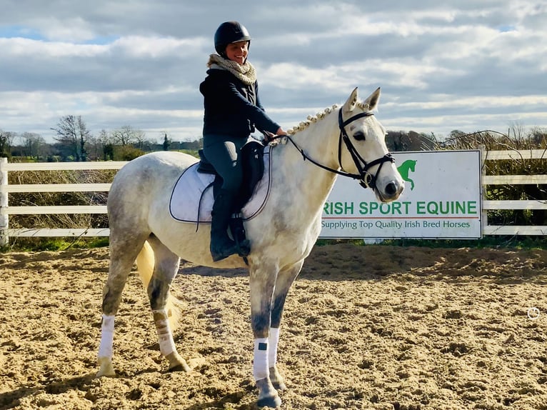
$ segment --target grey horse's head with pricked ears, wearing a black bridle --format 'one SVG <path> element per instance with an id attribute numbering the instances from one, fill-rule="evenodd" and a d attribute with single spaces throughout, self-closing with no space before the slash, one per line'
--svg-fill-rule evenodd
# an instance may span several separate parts
<path id="1" fill-rule="evenodd" d="M 378 106 L 380 88 L 365 101 L 359 101 L 354 89 L 339 111 L 341 169 L 360 176 L 362 186 L 373 189 L 383 202 L 395 201 L 401 195 L 404 182 L 386 146 L 386 129 L 373 115 Z"/>

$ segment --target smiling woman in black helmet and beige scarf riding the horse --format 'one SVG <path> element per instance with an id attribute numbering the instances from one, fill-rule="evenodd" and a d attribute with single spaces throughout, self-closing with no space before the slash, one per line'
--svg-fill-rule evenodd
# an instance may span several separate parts
<path id="1" fill-rule="evenodd" d="M 237 21 L 226 21 L 215 33 L 215 50 L 199 86 L 204 95 L 204 155 L 222 177 L 211 221 L 211 256 L 220 261 L 232 254 L 249 254 L 249 242 L 237 246 L 228 236 L 234 200 L 241 187 L 241 148 L 256 129 L 266 136 L 286 135 L 264 112 L 254 66 L 247 61 L 251 36 Z"/>

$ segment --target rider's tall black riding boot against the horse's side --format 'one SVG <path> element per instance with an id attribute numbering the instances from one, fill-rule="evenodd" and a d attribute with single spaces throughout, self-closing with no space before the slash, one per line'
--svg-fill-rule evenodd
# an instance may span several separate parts
<path id="1" fill-rule="evenodd" d="M 218 262 L 230 255 L 237 254 L 239 246 L 228 236 L 228 224 L 232 213 L 234 195 L 221 189 L 216 196 L 211 212 L 211 256 Z"/>

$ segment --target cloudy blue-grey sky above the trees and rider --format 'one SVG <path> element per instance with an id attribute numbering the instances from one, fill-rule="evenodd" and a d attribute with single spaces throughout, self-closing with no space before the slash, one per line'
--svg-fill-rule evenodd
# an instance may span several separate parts
<path id="1" fill-rule="evenodd" d="M 0 0 L 0 130 L 53 141 L 62 116 L 95 136 L 201 137 L 214 32 L 240 21 L 260 97 L 284 129 L 382 89 L 391 131 L 547 128 L 547 0 Z"/>

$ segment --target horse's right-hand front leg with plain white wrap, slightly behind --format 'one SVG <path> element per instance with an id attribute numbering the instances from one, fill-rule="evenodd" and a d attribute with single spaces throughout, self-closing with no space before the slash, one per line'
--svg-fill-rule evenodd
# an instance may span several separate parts
<path id="1" fill-rule="evenodd" d="M 273 292 L 273 306 L 271 308 L 271 325 L 269 336 L 269 351 L 268 364 L 269 376 L 273 387 L 277 390 L 286 390 L 283 377 L 277 369 L 277 347 L 279 342 L 279 326 L 281 325 L 281 316 L 283 316 L 283 306 L 288 294 L 288 289 L 291 288 L 294 279 L 302 269 L 303 260 L 290 266 L 288 269 L 283 269 L 277 274 L 276 288 Z"/>

